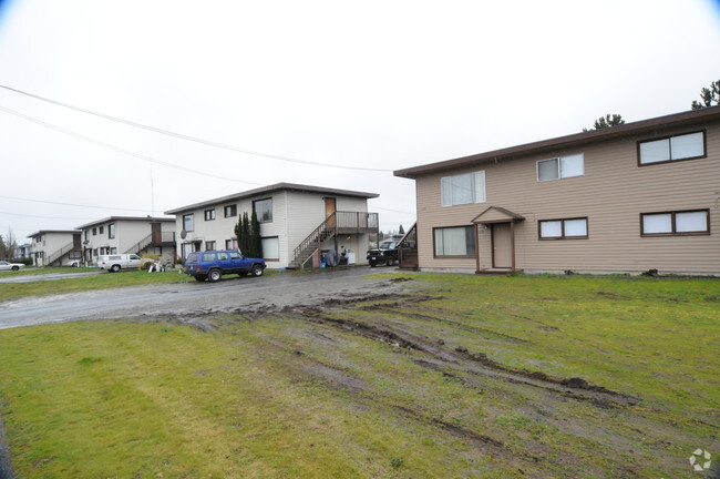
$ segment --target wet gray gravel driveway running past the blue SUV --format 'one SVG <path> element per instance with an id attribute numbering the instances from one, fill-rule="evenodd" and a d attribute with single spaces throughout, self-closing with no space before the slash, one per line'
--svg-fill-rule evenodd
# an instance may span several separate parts
<path id="1" fill-rule="evenodd" d="M 382 273 L 394 268 L 383 268 Z M 378 269 L 351 267 L 263 277 L 235 276 L 219 283 L 137 286 L 0 303 L 0 329 L 76 319 L 147 315 L 193 315 L 241 307 L 285 307 L 341 299 L 388 287 L 387 279 L 368 277 Z"/>

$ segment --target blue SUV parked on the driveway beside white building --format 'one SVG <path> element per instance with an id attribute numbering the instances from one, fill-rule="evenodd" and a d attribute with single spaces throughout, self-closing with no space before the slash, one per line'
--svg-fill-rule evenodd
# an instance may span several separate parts
<path id="1" fill-rule="evenodd" d="M 238 251 L 195 252 L 185 258 L 185 273 L 198 282 L 215 283 L 226 274 L 263 276 L 265 259 L 243 256 Z"/>

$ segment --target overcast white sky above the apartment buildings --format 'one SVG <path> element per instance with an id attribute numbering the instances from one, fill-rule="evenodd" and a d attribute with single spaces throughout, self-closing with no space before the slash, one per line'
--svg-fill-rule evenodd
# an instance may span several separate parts
<path id="1" fill-rule="evenodd" d="M 379 193 L 408 228 L 392 170 L 689 110 L 719 51 L 719 0 L 0 0 L 0 85 L 384 170 L 0 88 L 0 234 L 278 182 Z"/>

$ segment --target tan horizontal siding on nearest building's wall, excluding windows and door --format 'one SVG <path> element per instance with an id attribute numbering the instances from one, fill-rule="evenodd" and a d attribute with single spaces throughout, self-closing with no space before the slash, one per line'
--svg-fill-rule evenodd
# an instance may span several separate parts
<path id="1" fill-rule="evenodd" d="M 667 132 L 658 133 L 662 134 Z M 432 228 L 471 224 L 488 206 L 500 206 L 525 217 L 515 227 L 518 268 L 720 272 L 720 128 L 708 128 L 706 159 L 639 167 L 637 140 L 647 139 L 616 140 L 584 150 L 563 150 L 419 177 L 420 266 L 474 271 L 474 258 L 434 258 Z M 538 160 L 575 153 L 585 155 L 584 176 L 536 180 Z M 442 176 L 481 170 L 486 174 L 485 203 L 441 206 Z M 706 208 L 710 211 L 711 235 L 640 236 L 640 213 Z M 588 218 L 588 240 L 538 241 L 538 221 L 573 217 Z M 490 236 L 490 230 L 481 226 L 482 268 L 492 266 Z"/>

